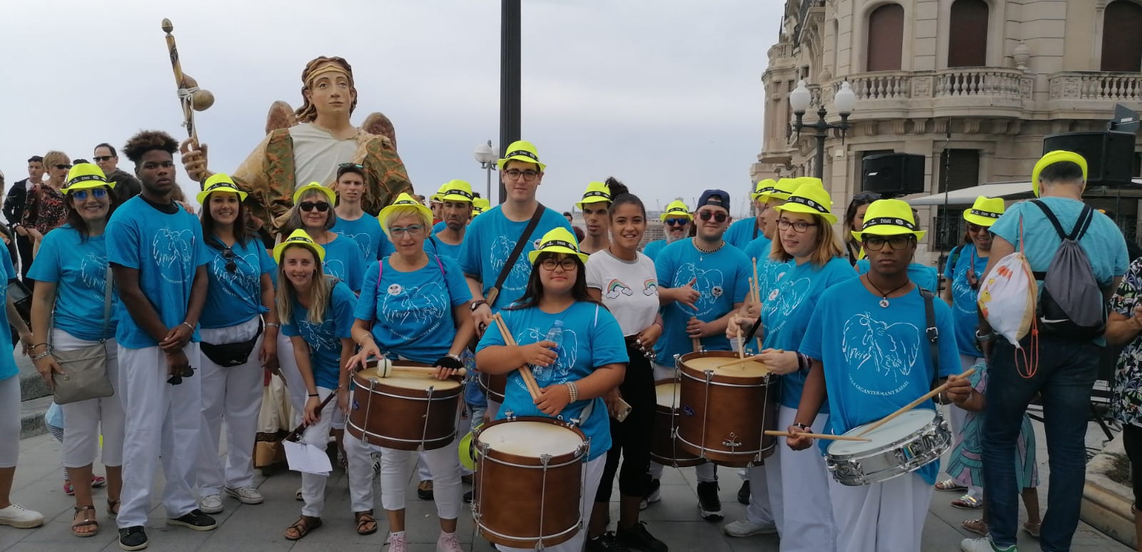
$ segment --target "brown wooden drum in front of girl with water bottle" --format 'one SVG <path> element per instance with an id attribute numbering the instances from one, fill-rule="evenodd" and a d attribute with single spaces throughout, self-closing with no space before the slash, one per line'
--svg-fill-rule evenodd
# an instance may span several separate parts
<path id="1" fill-rule="evenodd" d="M 508 417 L 482 425 L 475 441 L 480 458 L 472 511 L 481 536 L 540 549 L 579 533 L 589 448 L 582 431 L 550 417 Z"/>

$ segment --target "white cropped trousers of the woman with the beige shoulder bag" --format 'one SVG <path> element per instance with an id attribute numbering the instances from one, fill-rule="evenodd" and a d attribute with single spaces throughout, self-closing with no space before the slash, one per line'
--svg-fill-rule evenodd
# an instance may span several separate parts
<path id="1" fill-rule="evenodd" d="M 51 331 L 51 347 L 73 351 L 97 344 L 63 331 Z M 103 435 L 103 465 L 123 465 L 123 431 L 127 415 L 119 392 L 119 346 L 114 339 L 104 342 L 107 351 L 107 379 L 115 393 L 111 397 L 79 400 L 59 405 L 64 413 L 64 468 L 82 468 L 95 462 Z"/>

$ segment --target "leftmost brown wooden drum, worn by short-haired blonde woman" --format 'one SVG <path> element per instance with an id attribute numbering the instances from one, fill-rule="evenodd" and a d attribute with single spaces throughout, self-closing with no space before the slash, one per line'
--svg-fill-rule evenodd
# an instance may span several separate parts
<path id="1" fill-rule="evenodd" d="M 401 360 L 404 366 L 431 366 Z M 380 378 L 376 364 L 353 374 L 345 429 L 359 439 L 399 450 L 448 446 L 456 439 L 456 413 L 464 385 L 431 374 Z"/>

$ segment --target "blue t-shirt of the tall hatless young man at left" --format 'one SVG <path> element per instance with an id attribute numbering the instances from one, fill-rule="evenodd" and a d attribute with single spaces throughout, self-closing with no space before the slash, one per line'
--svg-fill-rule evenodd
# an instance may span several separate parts
<path id="1" fill-rule="evenodd" d="M 164 213 L 137 195 L 115 209 L 104 235 L 107 260 L 138 270 L 139 289 L 159 312 L 162 324 L 167 327 L 182 324 L 191 302 L 194 273 L 210 260 L 199 219 L 182 206 L 174 213 Z M 128 349 L 159 346 L 131 318 L 122 302 L 119 303 L 115 339 Z M 196 327 L 191 341 L 199 341 Z"/>

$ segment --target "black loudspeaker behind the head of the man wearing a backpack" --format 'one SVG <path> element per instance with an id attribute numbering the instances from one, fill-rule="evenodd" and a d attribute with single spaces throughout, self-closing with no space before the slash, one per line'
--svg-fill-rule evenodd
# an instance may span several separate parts
<path id="1" fill-rule="evenodd" d="M 1131 184 L 1134 169 L 1134 133 L 1113 130 L 1064 132 L 1043 139 L 1043 153 L 1065 149 L 1086 159 L 1088 186 Z"/>

